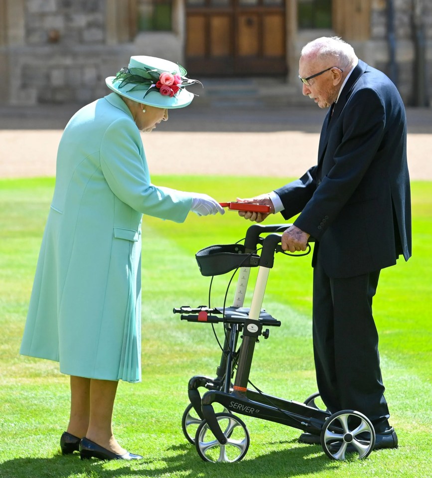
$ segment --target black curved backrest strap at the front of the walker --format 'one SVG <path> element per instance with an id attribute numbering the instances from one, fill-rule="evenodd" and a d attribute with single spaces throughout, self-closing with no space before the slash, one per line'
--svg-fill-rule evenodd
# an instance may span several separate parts
<path id="1" fill-rule="evenodd" d="M 203 276 L 219 276 L 239 267 L 258 267 L 260 256 L 247 254 L 243 244 L 209 246 L 195 254 Z"/>

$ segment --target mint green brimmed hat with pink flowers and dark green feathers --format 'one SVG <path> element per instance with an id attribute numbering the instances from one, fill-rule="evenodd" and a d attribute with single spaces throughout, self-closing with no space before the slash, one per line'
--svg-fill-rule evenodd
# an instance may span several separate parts
<path id="1" fill-rule="evenodd" d="M 156 108 L 183 108 L 194 97 L 186 86 L 200 83 L 186 74 L 181 65 L 172 61 L 132 56 L 128 68 L 122 68 L 117 76 L 109 76 L 105 82 L 108 88 L 130 100 Z"/>

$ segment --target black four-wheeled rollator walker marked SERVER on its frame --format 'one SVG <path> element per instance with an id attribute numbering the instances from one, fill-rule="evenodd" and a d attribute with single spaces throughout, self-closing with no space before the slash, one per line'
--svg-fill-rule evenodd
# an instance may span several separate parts
<path id="1" fill-rule="evenodd" d="M 184 436 L 195 444 L 198 455 L 206 462 L 236 462 L 246 455 L 250 444 L 249 431 L 237 414 L 320 436 L 324 453 L 333 460 L 345 460 L 346 454 L 351 452 L 363 459 L 373 450 L 374 428 L 360 412 L 341 410 L 331 414 L 318 406 L 318 393 L 304 402 L 296 402 L 248 388 L 255 344 L 259 337 L 269 337 L 269 328 L 263 327 L 281 325 L 281 321 L 263 310 L 262 305 L 275 253 L 287 254 L 280 243 L 281 232 L 289 226 L 254 224 L 247 230 L 244 244 L 215 245 L 200 250 L 196 260 L 203 276 L 239 269 L 233 305 L 211 309 L 183 306 L 173 311 L 188 322 L 224 324 L 225 340 L 216 377 L 197 375 L 189 380 L 190 404 L 182 417 Z M 258 251 L 260 246 L 262 248 Z M 310 246 L 306 254 L 309 252 Z M 252 267 L 258 267 L 258 274 L 251 306 L 245 308 Z M 237 349 L 239 338 L 241 344 Z M 207 390 L 202 396 L 200 388 Z M 216 413 L 215 407 L 222 411 Z"/>

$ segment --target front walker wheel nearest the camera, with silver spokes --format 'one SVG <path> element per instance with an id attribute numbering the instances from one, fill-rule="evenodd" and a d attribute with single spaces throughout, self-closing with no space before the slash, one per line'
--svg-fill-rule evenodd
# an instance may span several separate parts
<path id="1" fill-rule="evenodd" d="M 206 420 L 199 425 L 195 435 L 195 447 L 205 462 L 238 462 L 249 448 L 249 432 L 244 422 L 230 413 L 216 413 L 227 443 L 221 445 L 210 430 Z"/>

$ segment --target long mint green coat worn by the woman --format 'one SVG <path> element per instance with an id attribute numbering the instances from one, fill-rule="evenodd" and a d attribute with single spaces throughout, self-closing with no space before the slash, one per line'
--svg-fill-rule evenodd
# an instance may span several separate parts
<path id="1" fill-rule="evenodd" d="M 58 149 L 20 353 L 59 361 L 68 375 L 140 381 L 142 215 L 183 222 L 191 203 L 151 184 L 117 94 L 78 111 Z"/>

